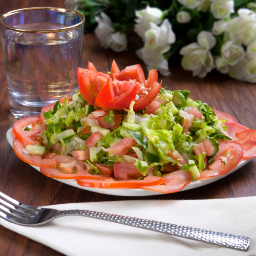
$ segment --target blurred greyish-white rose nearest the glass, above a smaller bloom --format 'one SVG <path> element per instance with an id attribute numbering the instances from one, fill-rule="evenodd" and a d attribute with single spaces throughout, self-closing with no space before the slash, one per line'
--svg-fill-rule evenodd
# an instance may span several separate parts
<path id="1" fill-rule="evenodd" d="M 106 41 L 110 40 L 111 35 L 115 33 L 115 29 L 112 26 L 111 19 L 108 15 L 106 15 L 104 12 L 101 12 L 101 17 L 102 18 L 95 17 L 98 26 L 94 32 L 100 41 L 101 47 L 106 49 L 108 48 Z"/>

